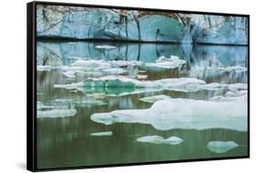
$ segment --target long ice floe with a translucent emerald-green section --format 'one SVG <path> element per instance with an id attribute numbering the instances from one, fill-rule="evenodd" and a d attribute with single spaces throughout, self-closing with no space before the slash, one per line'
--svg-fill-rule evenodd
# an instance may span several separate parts
<path id="1" fill-rule="evenodd" d="M 122 90 L 121 93 L 136 94 L 146 93 L 148 91 L 181 91 L 181 92 L 197 92 L 199 90 L 220 90 L 220 89 L 247 89 L 247 84 L 219 84 L 211 83 L 206 84 L 205 81 L 191 78 L 191 77 L 180 77 L 180 78 L 165 78 L 159 80 L 138 80 L 130 78 L 128 76 L 102 76 L 97 78 L 87 78 L 83 82 L 71 83 L 67 85 L 55 85 L 55 87 L 64 87 L 67 89 L 73 88 L 80 91 L 100 91 L 105 92 L 106 90 L 114 91 L 111 88 L 119 88 L 116 90 Z M 84 88 L 84 89 L 83 89 Z M 100 89 L 101 88 L 101 89 Z M 120 89 L 121 88 L 121 89 Z"/>

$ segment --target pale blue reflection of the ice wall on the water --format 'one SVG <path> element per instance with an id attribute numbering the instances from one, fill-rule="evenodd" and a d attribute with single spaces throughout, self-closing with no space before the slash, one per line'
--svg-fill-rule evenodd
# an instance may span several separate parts
<path id="1" fill-rule="evenodd" d="M 179 74 L 189 74 L 190 77 L 210 78 L 210 81 L 217 81 L 216 78 L 223 76 L 230 82 L 247 82 L 247 73 L 220 74 L 220 69 L 225 72 L 225 67 L 230 71 L 233 66 L 237 66 L 242 71 L 242 67 L 247 67 L 248 51 L 246 46 L 190 46 L 171 44 L 116 44 L 115 48 L 103 49 L 96 46 L 109 45 L 100 42 L 37 42 L 37 66 L 70 66 L 77 59 L 94 60 L 127 60 L 140 61 L 143 63 L 155 63 L 160 56 L 179 56 L 187 63 L 179 68 Z M 147 70 L 157 70 L 149 68 Z M 119 69 L 117 69 L 119 70 Z M 128 68 L 128 73 L 136 73 L 137 69 Z M 119 71 L 121 73 L 121 71 Z M 72 72 L 65 74 L 74 76 Z M 143 75 L 143 74 L 140 74 Z M 162 74 L 162 77 L 167 75 Z M 187 76 L 187 75 L 186 75 Z"/>

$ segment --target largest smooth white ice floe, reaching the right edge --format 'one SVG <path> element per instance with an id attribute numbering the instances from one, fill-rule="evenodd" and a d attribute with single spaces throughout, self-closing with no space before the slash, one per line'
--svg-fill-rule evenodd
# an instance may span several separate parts
<path id="1" fill-rule="evenodd" d="M 227 128 L 247 131 L 247 96 L 227 102 L 168 98 L 155 102 L 148 109 L 115 110 L 96 113 L 90 118 L 105 125 L 150 124 L 159 130 Z"/>

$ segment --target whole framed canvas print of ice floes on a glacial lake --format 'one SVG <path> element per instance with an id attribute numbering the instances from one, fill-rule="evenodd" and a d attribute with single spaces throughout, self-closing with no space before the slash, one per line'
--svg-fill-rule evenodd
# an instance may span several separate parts
<path id="1" fill-rule="evenodd" d="M 27 169 L 250 156 L 250 16 L 27 4 Z"/>

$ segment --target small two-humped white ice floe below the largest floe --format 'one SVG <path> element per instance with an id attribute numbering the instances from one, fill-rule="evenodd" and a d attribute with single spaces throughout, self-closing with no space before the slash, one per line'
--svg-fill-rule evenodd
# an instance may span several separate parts
<path id="1" fill-rule="evenodd" d="M 178 145 L 183 142 L 183 139 L 179 137 L 164 138 L 160 136 L 146 136 L 137 138 L 138 142 L 152 143 L 152 144 L 169 144 Z"/>

